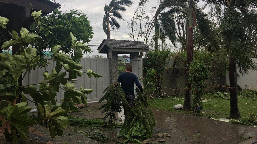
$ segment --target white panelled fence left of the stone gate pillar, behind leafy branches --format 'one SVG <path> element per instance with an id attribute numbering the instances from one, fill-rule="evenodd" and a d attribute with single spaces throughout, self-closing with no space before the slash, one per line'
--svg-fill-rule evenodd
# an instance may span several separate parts
<path id="1" fill-rule="evenodd" d="M 28 84 L 36 84 L 40 83 L 44 80 L 43 73 L 48 72 L 51 73 L 52 69 L 55 68 L 56 62 L 54 60 L 49 60 L 51 64 L 49 64 L 46 68 L 36 68 L 34 71 L 32 70 L 30 73 L 26 74 L 22 83 L 23 85 Z M 109 59 L 108 58 L 82 58 L 80 64 L 83 66 L 81 71 L 86 72 L 88 69 L 101 74 L 103 77 L 88 78 L 87 73 L 84 73 L 82 77 L 78 77 L 77 80 L 73 80 L 73 84 L 79 90 L 80 86 L 86 89 L 93 89 L 94 91 L 87 95 L 87 102 L 96 101 L 103 97 L 103 90 L 110 84 L 109 77 Z M 64 72 L 64 69 L 61 70 Z M 68 74 L 68 73 L 67 73 Z M 68 78 L 68 75 L 66 76 Z M 36 86 L 36 85 L 35 85 Z M 36 86 L 37 87 L 37 86 Z M 63 86 L 61 85 L 63 88 Z M 57 93 L 56 99 L 57 103 L 61 103 L 63 97 L 64 90 L 60 89 Z M 29 97 L 26 95 L 26 97 Z M 29 97 L 32 100 L 32 98 Z M 34 103 L 28 102 L 28 105 L 34 106 Z"/>

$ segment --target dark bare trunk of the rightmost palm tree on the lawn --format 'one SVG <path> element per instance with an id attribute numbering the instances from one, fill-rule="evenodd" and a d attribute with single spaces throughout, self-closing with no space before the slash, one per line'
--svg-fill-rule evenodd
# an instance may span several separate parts
<path id="1" fill-rule="evenodd" d="M 229 57 L 229 85 L 230 85 L 230 119 L 239 119 L 240 113 L 238 108 L 237 99 L 237 73 L 236 73 L 236 62 L 232 55 Z"/>

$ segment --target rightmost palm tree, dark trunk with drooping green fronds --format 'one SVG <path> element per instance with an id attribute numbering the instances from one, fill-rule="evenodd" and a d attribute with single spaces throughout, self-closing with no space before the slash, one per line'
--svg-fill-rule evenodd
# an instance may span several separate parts
<path id="1" fill-rule="evenodd" d="M 257 27 L 257 13 L 249 7 L 256 4 L 256 0 L 204 0 L 208 3 L 225 6 L 221 20 L 221 34 L 224 45 L 229 52 L 229 83 L 230 83 L 230 119 L 239 119 L 237 97 L 237 67 L 240 73 L 257 70 L 256 63 L 250 58 L 249 52 L 254 44 L 252 35 L 248 33 L 245 23 Z"/>

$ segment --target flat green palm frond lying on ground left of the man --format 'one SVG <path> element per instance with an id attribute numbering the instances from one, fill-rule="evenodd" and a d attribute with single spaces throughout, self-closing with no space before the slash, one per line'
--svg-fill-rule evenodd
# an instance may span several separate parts
<path id="1" fill-rule="evenodd" d="M 91 120 L 86 118 L 75 118 L 73 116 L 66 116 L 70 120 L 70 126 L 79 126 L 79 127 L 104 127 L 106 122 L 102 120 Z M 115 127 L 121 127 L 121 124 L 113 124 Z"/>

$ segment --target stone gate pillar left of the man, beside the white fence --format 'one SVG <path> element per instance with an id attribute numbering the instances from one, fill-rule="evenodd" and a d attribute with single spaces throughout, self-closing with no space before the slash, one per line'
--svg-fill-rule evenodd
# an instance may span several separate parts
<path id="1" fill-rule="evenodd" d="M 118 78 L 118 53 L 108 49 L 108 58 L 110 59 L 110 84 L 113 84 Z"/>

